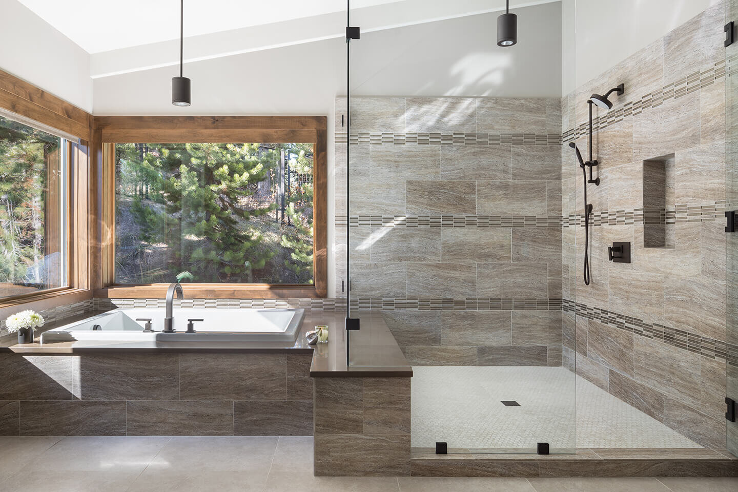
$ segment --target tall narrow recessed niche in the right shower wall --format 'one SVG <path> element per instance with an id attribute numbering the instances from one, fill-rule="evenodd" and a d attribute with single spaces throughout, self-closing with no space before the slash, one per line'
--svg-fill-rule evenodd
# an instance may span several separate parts
<path id="1" fill-rule="evenodd" d="M 644 248 L 673 248 L 675 224 L 666 211 L 674 210 L 674 154 L 644 161 Z"/>

